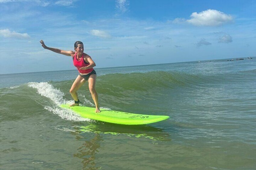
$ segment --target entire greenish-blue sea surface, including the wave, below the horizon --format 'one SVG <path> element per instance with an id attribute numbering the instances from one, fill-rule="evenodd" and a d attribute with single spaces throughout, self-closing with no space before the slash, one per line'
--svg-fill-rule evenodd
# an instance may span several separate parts
<path id="1" fill-rule="evenodd" d="M 136 126 L 58 107 L 77 70 L 0 75 L 0 169 L 256 169 L 256 59 L 227 60 L 96 68 L 101 107 L 170 116 Z"/>

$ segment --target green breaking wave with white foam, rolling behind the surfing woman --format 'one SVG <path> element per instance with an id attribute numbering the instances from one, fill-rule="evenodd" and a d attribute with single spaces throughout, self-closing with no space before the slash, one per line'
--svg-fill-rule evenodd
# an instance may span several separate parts
<path id="1" fill-rule="evenodd" d="M 102 107 L 123 111 L 128 109 L 128 111 L 136 112 L 138 110 L 135 108 L 138 104 L 149 105 L 150 103 L 145 103 L 147 101 L 153 102 L 155 105 L 156 100 L 160 100 L 162 96 L 166 97 L 168 93 L 172 93 L 177 88 L 188 87 L 199 81 L 203 81 L 203 78 L 186 73 L 168 73 L 164 71 L 114 73 L 98 76 L 96 88 Z M 43 108 L 59 115 L 63 119 L 83 121 L 84 119 L 78 118 L 76 115 L 67 116 L 68 114 L 70 115 L 70 112 L 64 113 L 66 111 L 58 107 L 60 104 L 72 103 L 72 98 L 69 94 L 69 88 L 72 83 L 73 80 L 28 82 L 23 85 L 1 88 L 1 98 L 5 100 L 0 102 L 9 111 L 20 107 L 24 107 L 24 110 L 26 108 L 30 110 L 31 105 L 33 105 L 33 110 L 37 110 L 40 113 Z M 86 84 L 78 91 L 78 96 L 86 106 L 94 107 Z M 10 104 L 10 107 L 8 107 L 8 104 Z M 133 107 L 130 107 L 131 105 Z M 11 112 L 15 113 L 16 111 Z M 17 113 L 17 115 L 22 116 L 20 113 Z"/>

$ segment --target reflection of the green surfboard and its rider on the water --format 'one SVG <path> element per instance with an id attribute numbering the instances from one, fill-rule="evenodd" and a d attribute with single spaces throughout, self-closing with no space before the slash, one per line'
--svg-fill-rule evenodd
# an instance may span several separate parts
<path id="1" fill-rule="evenodd" d="M 104 141 L 104 134 L 106 135 L 126 135 L 132 138 L 146 138 L 153 141 L 171 141 L 170 134 L 163 131 L 161 128 L 155 128 L 147 125 L 116 125 L 110 123 L 90 123 L 85 126 L 75 125 L 74 127 L 76 139 L 84 141 L 73 155 L 82 159 L 83 168 L 87 170 L 95 170 L 102 168 L 96 165 L 95 156 L 99 152 L 100 144 Z M 74 133 L 74 132 L 72 132 Z M 94 133 L 94 137 L 88 139 L 88 133 Z M 126 140 L 126 139 L 124 139 Z"/>

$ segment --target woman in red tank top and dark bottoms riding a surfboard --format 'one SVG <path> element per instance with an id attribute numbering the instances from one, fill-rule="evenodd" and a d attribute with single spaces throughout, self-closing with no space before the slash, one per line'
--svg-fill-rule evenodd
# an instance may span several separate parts
<path id="1" fill-rule="evenodd" d="M 43 40 L 40 40 L 40 43 L 42 44 L 42 47 L 47 50 L 51 50 L 53 52 L 63 54 L 66 56 L 71 56 L 73 58 L 73 64 L 77 68 L 79 75 L 75 79 L 74 83 L 72 84 L 70 88 L 70 94 L 75 100 L 75 103 L 71 104 L 70 106 L 79 106 L 79 103 L 81 103 L 77 96 L 78 89 L 86 82 L 88 81 L 89 90 L 91 92 L 92 99 L 96 106 L 96 113 L 101 112 L 98 102 L 98 94 L 95 90 L 95 83 L 96 83 L 96 72 L 93 69 L 96 64 L 91 59 L 91 57 L 88 54 L 84 53 L 84 45 L 81 41 L 75 42 L 75 51 L 64 51 L 57 48 L 50 48 L 47 47 Z"/>

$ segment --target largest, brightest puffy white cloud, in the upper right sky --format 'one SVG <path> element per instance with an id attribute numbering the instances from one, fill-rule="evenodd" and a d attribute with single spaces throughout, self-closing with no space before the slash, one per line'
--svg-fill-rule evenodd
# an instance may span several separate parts
<path id="1" fill-rule="evenodd" d="M 233 21 L 231 15 L 213 9 L 208 9 L 200 13 L 193 12 L 190 17 L 191 19 L 187 20 L 187 22 L 196 26 L 219 26 Z"/>

